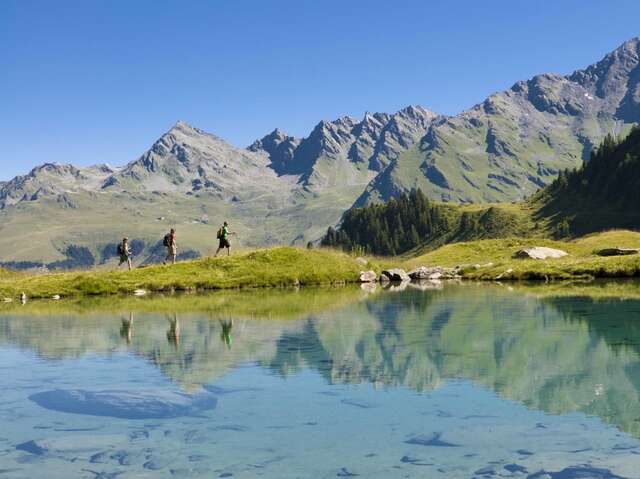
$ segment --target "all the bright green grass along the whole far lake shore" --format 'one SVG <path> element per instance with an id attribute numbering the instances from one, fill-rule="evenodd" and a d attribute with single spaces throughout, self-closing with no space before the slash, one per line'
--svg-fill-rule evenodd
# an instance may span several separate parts
<path id="1" fill-rule="evenodd" d="M 507 238 L 453 243 L 413 258 L 369 260 L 362 265 L 348 254 L 293 247 L 260 249 L 229 258 L 204 258 L 171 266 L 150 266 L 133 271 L 88 271 L 29 275 L 0 270 L 0 297 L 29 298 L 113 295 L 146 291 L 197 291 L 345 284 L 357 281 L 363 269 L 401 266 L 461 266 L 465 279 L 575 280 L 640 276 L 640 255 L 600 257 L 604 247 L 638 247 L 640 233 L 608 231 L 574 241 L 545 238 Z M 519 260 L 521 248 L 548 246 L 569 253 L 552 260 Z M 219 305 L 216 306 L 219 308 Z M 237 313 L 237 311 L 236 311 Z"/>

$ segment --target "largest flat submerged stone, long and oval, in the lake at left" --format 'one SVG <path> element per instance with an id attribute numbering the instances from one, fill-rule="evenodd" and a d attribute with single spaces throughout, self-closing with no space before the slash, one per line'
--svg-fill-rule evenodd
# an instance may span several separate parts
<path id="1" fill-rule="evenodd" d="M 212 394 L 190 396 L 164 390 L 85 391 L 54 389 L 32 394 L 29 399 L 53 411 L 120 419 L 156 419 L 193 416 L 214 409 Z"/>

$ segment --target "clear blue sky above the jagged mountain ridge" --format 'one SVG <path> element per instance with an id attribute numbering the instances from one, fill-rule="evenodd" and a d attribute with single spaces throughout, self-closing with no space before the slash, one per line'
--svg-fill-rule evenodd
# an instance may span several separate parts
<path id="1" fill-rule="evenodd" d="M 246 146 L 409 104 L 457 113 L 599 60 L 638 18 L 638 0 L 1 0 L 0 180 L 124 164 L 177 120 Z"/>

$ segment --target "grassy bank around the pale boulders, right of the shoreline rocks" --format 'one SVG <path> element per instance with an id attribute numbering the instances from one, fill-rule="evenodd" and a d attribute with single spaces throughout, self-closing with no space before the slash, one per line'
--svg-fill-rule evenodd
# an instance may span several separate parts
<path id="1" fill-rule="evenodd" d="M 513 259 L 517 250 L 547 246 L 569 253 L 560 259 Z M 464 266 L 468 279 L 556 280 L 588 278 L 623 278 L 640 276 L 640 255 L 600 257 L 595 251 L 606 247 L 638 248 L 640 233 L 608 231 L 574 241 L 507 238 L 455 243 L 429 253 L 405 259 L 404 267 L 418 265 Z M 479 265 L 479 268 L 475 266 Z"/>

